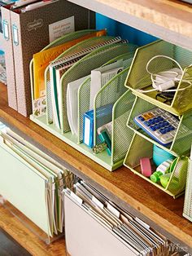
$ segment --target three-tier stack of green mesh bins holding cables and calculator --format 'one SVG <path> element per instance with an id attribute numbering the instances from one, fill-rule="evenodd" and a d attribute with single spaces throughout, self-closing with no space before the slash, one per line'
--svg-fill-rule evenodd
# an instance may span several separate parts
<path id="1" fill-rule="evenodd" d="M 181 67 L 184 68 L 184 74 L 181 77 L 181 81 L 178 83 L 177 91 L 172 100 L 172 104 L 170 105 L 155 99 L 155 95 L 157 94 L 156 91 L 144 94 L 137 90 L 149 90 L 152 88 L 151 75 L 146 72 L 146 64 L 155 55 L 168 55 L 172 59 L 177 60 L 177 62 L 181 64 Z M 192 86 L 189 86 L 189 84 L 186 85 L 186 82 L 183 82 L 187 77 L 191 77 L 191 63 L 192 53 L 190 51 L 162 40 L 153 42 L 137 49 L 125 82 L 125 86 L 132 90 L 133 94 L 136 95 L 136 98 L 127 121 L 127 126 L 129 129 L 133 130 L 134 136 L 124 159 L 124 166 L 127 166 L 133 173 L 139 175 L 142 179 L 146 179 L 148 182 L 164 192 L 167 192 L 174 198 L 180 196 L 185 191 L 189 161 L 188 157 L 185 156 L 189 156 L 192 143 Z M 163 72 L 164 70 L 175 67 L 174 65 L 170 66 L 170 64 L 170 61 L 168 62 L 167 60 L 154 63 L 155 73 Z M 186 90 L 179 90 L 185 86 L 188 87 Z M 139 128 L 133 121 L 134 117 L 152 110 L 157 106 L 159 108 L 164 108 L 164 110 L 169 113 L 177 115 L 179 120 L 176 135 L 174 136 L 172 143 L 168 144 L 166 147 L 155 141 L 155 139 L 152 139 L 150 135 Z M 185 135 L 181 132 L 183 126 L 188 128 Z M 154 144 L 177 157 L 176 165 L 172 170 L 172 175 L 166 188 L 162 187 L 159 183 L 153 183 L 151 179 L 146 178 L 141 172 L 140 158 L 149 157 L 152 160 Z M 151 164 L 153 164 L 152 161 Z"/>

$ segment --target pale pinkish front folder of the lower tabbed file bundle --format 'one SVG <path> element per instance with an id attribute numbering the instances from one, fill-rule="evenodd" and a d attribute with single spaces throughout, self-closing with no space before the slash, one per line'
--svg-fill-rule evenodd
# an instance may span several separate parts
<path id="1" fill-rule="evenodd" d="M 137 255 L 109 228 L 104 227 L 96 218 L 89 215 L 67 193 L 64 194 L 64 207 L 65 241 L 68 255 Z"/>

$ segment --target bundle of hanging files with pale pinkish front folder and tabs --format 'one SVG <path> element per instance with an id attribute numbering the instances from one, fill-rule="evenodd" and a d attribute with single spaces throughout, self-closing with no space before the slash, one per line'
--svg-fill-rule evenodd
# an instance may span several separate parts
<path id="1" fill-rule="evenodd" d="M 109 201 L 89 184 L 64 191 L 68 254 L 167 255 L 167 240 L 150 226 Z M 76 236 L 78 231 L 78 236 Z"/>

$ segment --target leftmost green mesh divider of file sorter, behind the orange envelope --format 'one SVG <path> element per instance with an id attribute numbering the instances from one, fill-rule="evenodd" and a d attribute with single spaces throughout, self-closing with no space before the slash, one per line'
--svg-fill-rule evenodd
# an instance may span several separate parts
<path id="1" fill-rule="evenodd" d="M 82 36 L 85 36 L 86 34 L 89 34 L 89 33 L 93 33 L 95 31 L 96 30 L 94 30 L 94 29 L 85 29 L 85 30 L 76 31 L 74 33 L 68 33 L 68 34 L 64 35 L 62 38 L 58 38 L 54 42 L 51 42 L 49 45 L 44 47 L 41 51 L 46 51 L 52 47 L 59 46 L 65 42 L 72 41 L 76 38 L 81 38 Z M 30 82 L 31 82 L 31 94 L 32 94 L 32 99 L 34 100 L 33 59 L 30 62 L 29 71 L 30 71 Z M 49 75 L 48 75 L 48 77 L 46 77 L 46 79 L 47 79 L 47 83 L 48 83 L 47 86 L 50 87 Z M 46 82 L 46 80 L 45 80 L 45 82 Z M 49 107 L 49 106 L 47 106 L 47 107 Z M 52 109 L 51 109 L 51 111 L 52 111 Z M 52 117 L 52 112 L 50 113 L 50 116 Z M 50 118 L 50 119 L 52 120 L 52 118 Z"/>

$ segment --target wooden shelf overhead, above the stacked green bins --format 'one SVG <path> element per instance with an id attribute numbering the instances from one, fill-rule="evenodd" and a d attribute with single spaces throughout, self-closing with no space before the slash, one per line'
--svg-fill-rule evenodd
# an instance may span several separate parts
<path id="1" fill-rule="evenodd" d="M 68 0 L 192 50 L 192 5 L 177 0 Z"/>

